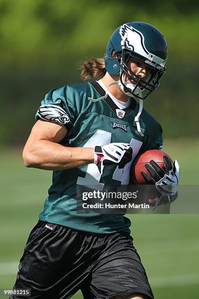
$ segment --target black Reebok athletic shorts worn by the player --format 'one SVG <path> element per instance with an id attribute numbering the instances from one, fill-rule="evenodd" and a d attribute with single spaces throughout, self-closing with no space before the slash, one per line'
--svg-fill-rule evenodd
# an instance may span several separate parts
<path id="1" fill-rule="evenodd" d="M 85 299 L 121 294 L 154 298 L 133 238 L 126 233 L 92 234 L 40 221 L 31 231 L 14 289 L 31 299 Z M 10 299 L 24 297 L 10 296 Z M 28 297 L 27 297 L 28 298 Z"/>

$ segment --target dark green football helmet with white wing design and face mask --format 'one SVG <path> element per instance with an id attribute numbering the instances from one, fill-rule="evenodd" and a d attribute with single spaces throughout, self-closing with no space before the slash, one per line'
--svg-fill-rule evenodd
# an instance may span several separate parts
<path id="1" fill-rule="evenodd" d="M 144 22 L 128 22 L 111 36 L 104 54 L 105 68 L 110 75 L 120 73 L 118 85 L 125 94 L 144 100 L 159 86 L 159 79 L 166 70 L 167 53 L 166 40 L 156 27 Z M 131 57 L 149 68 L 146 80 L 128 67 Z M 124 82 L 124 74 L 135 84 Z"/>

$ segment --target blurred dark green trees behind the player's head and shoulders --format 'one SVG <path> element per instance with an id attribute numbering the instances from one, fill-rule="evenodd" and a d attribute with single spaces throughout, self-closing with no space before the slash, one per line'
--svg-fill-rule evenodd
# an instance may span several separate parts
<path id="1" fill-rule="evenodd" d="M 158 27 L 169 47 L 167 72 L 144 106 L 164 137 L 199 136 L 198 1 L 0 0 L 0 144 L 23 144 L 44 95 L 80 82 L 78 62 L 103 56 L 127 21 Z"/>

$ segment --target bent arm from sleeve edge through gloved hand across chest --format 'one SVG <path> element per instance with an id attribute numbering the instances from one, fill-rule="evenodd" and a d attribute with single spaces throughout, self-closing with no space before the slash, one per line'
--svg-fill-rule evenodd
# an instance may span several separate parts
<path id="1" fill-rule="evenodd" d="M 111 143 L 105 147 L 96 145 L 95 148 L 65 147 L 59 142 L 66 134 L 67 129 L 62 125 L 38 120 L 23 149 L 24 165 L 43 170 L 60 171 L 101 162 L 99 167 L 101 172 L 102 164 L 111 165 L 118 162 L 119 168 L 123 168 L 131 160 L 132 149 L 127 144 Z M 111 158 L 113 155 L 114 159 Z M 115 159 L 118 161 L 116 162 Z"/>

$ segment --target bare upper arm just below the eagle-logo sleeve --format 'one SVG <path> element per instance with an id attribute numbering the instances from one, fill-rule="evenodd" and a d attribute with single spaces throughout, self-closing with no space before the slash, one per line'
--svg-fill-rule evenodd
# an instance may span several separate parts
<path id="1" fill-rule="evenodd" d="M 59 143 L 66 134 L 67 129 L 64 126 L 39 119 L 31 130 L 26 146 L 30 144 L 34 145 L 40 140 Z"/>

